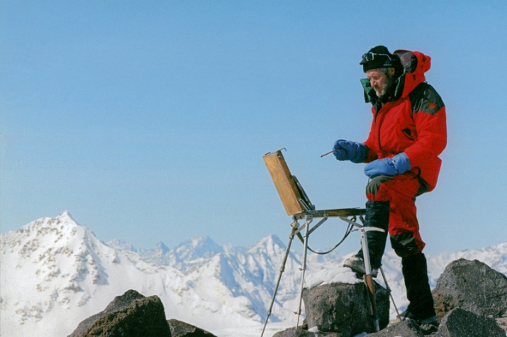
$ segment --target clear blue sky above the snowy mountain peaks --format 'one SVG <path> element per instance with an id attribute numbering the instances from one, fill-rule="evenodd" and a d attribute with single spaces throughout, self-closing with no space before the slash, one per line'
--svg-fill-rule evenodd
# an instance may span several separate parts
<path id="1" fill-rule="evenodd" d="M 68 210 L 103 241 L 248 247 L 291 219 L 262 160 L 286 148 L 318 209 L 364 206 L 360 57 L 432 57 L 448 145 L 418 198 L 428 253 L 507 238 L 507 2 L 2 1 L 0 226 Z M 329 220 L 311 237 L 342 237 Z M 357 248 L 348 238 L 342 253 Z"/>

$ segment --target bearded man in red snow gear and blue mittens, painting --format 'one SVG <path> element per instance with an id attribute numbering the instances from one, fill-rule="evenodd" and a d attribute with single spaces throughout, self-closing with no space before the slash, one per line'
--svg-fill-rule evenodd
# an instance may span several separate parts
<path id="1" fill-rule="evenodd" d="M 379 45 L 362 56 L 367 79 L 364 97 L 372 103 L 373 122 L 364 143 L 337 140 L 333 153 L 338 160 L 366 162 L 365 226 L 372 275 L 377 276 L 389 233 L 391 246 L 401 257 L 408 304 L 403 316 L 419 324 L 437 325 L 428 267 L 422 250 L 416 217 L 416 197 L 435 188 L 442 153 L 447 143 L 445 106 L 425 82 L 430 57 L 419 52 Z M 360 250 L 344 266 L 365 274 Z"/>

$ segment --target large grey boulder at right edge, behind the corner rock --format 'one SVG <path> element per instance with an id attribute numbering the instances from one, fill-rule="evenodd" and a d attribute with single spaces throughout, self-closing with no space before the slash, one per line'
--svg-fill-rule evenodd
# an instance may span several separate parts
<path id="1" fill-rule="evenodd" d="M 439 319 L 456 308 L 500 317 L 507 311 L 507 277 L 478 260 L 455 260 L 440 275 L 433 297 Z"/>

